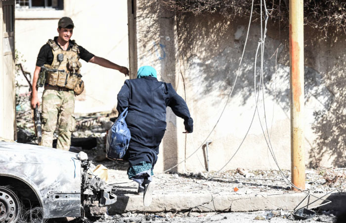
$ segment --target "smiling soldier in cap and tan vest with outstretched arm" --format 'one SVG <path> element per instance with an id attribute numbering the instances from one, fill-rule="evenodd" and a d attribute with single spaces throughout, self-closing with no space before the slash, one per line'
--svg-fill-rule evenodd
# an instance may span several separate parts
<path id="1" fill-rule="evenodd" d="M 57 149 L 69 150 L 71 144 L 71 132 L 75 128 L 73 112 L 75 110 L 75 94 L 83 91 L 84 84 L 81 81 L 79 58 L 87 62 L 119 70 L 125 76 L 129 75 L 128 68 L 119 66 L 105 58 L 94 56 L 86 49 L 71 40 L 74 24 L 71 18 L 62 17 L 58 22 L 58 36 L 54 40 L 48 40 L 43 45 L 37 57 L 36 68 L 33 77 L 33 92 L 31 106 L 40 106 L 38 98 L 37 81 L 41 67 L 47 69 L 42 96 L 42 146 L 52 147 L 53 133 L 58 123 Z"/>

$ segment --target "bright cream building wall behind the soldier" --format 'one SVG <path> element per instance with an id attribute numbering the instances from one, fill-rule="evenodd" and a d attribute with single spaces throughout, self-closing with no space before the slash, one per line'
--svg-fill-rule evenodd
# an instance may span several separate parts
<path id="1" fill-rule="evenodd" d="M 77 44 L 96 56 L 129 66 L 127 0 L 65 0 L 64 10 L 16 9 L 16 50 L 26 60 L 26 70 L 34 72 L 40 48 L 57 36 L 62 16 L 74 21 L 72 39 Z M 80 61 L 85 91 L 76 98 L 75 112 L 111 111 L 126 79 L 124 74 Z"/>

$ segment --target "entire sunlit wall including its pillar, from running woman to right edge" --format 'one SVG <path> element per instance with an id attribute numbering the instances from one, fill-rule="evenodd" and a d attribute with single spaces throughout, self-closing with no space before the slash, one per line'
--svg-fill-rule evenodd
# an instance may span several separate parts
<path id="1" fill-rule="evenodd" d="M 151 64 L 160 73 L 160 80 L 172 82 L 186 99 L 194 118 L 194 133 L 185 139 L 181 134 L 182 119 L 168 112 L 163 155 L 159 158 L 163 164 L 157 168 L 167 169 L 192 154 L 214 128 L 235 81 L 249 18 L 229 20 L 218 14 L 175 16 L 165 11 L 158 1 L 140 2 L 146 7 L 137 1 L 138 66 Z M 331 29 L 326 38 L 325 33 L 310 27 L 305 27 L 304 32 L 305 163 L 308 167 L 344 167 L 346 35 Z M 255 112 L 254 67 L 259 38 L 259 22 L 253 22 L 234 91 L 209 137 L 212 140 L 209 146 L 211 170 L 218 170 L 227 163 L 251 123 L 239 152 L 224 170 L 276 169 L 268 144 L 279 166 L 290 169 L 288 29 L 268 23 L 263 53 L 264 99 L 261 91 L 259 112 Z M 257 88 L 259 67 L 260 56 Z M 203 146 L 177 170 L 205 171 L 205 168 Z"/>

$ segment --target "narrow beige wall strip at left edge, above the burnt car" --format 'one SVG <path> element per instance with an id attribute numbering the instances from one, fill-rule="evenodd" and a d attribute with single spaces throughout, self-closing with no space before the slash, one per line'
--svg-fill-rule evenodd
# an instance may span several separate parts
<path id="1" fill-rule="evenodd" d="M 0 137 L 6 139 L 16 139 L 13 13 L 14 0 L 0 0 Z"/>

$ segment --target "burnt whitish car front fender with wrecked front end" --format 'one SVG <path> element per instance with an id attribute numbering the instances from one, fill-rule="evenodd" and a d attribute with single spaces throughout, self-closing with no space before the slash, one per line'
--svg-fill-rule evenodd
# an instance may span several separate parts
<path id="1" fill-rule="evenodd" d="M 87 174 L 90 163 L 68 151 L 0 142 L 0 186 L 16 187 L 18 183 L 14 183 L 17 182 L 14 179 L 27 184 L 36 194 L 45 219 L 80 217 L 86 200 L 101 201 L 106 196 L 110 199 L 103 204 L 116 201 L 110 186 Z M 15 191 L 29 193 L 20 189 Z"/>

